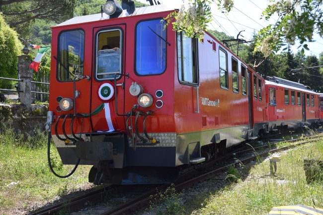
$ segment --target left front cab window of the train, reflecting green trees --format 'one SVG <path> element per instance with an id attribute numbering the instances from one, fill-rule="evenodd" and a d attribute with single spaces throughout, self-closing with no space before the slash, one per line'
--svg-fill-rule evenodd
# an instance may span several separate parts
<path id="1" fill-rule="evenodd" d="M 84 31 L 65 31 L 59 36 L 57 51 L 58 81 L 73 81 L 76 73 L 83 74 Z"/>

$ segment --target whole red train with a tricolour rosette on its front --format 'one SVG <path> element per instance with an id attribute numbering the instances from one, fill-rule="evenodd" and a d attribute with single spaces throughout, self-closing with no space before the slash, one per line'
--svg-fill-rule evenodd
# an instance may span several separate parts
<path id="1" fill-rule="evenodd" d="M 208 32 L 199 43 L 164 29 L 172 7 L 129 2 L 52 28 L 47 129 L 64 164 L 93 165 L 90 182 L 171 183 L 247 140 L 319 122 L 317 93 L 265 80 Z"/>

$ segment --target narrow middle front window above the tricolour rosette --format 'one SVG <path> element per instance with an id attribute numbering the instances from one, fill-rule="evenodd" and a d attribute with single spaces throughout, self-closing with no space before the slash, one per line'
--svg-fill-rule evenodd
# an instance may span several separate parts
<path id="1" fill-rule="evenodd" d="M 115 74 L 121 72 L 121 30 L 100 31 L 96 36 L 96 41 L 95 78 L 97 80 L 114 79 Z"/>

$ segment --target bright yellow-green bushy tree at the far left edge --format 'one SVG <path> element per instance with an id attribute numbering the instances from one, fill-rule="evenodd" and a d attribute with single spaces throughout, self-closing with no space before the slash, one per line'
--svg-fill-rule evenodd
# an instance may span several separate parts
<path id="1" fill-rule="evenodd" d="M 17 78 L 17 55 L 22 54 L 18 34 L 3 20 L 0 13 L 0 77 Z M 0 80 L 0 88 L 7 88 L 7 81 Z"/>

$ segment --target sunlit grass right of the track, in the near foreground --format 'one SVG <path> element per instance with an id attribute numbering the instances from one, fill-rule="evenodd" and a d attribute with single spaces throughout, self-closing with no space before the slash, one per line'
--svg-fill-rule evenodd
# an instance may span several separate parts
<path id="1" fill-rule="evenodd" d="M 255 164 L 236 169 L 236 183 L 210 179 L 207 189 L 174 194 L 165 198 L 165 207 L 155 205 L 160 215 L 267 215 L 272 207 L 307 205 L 323 208 L 323 181 L 306 181 L 304 159 L 323 160 L 323 140 L 300 145 L 281 153 L 275 176 L 268 175 L 269 161 L 261 158 Z M 233 174 L 227 172 L 227 174 Z M 323 177 L 323 169 L 321 172 Z M 232 181 L 232 180 L 231 180 Z M 217 189 L 216 187 L 220 187 Z M 193 192 L 192 195 L 190 192 Z M 199 192 L 196 194 L 196 192 Z M 162 209 L 163 208 L 163 209 Z M 148 213 L 149 214 L 149 213 Z"/>

